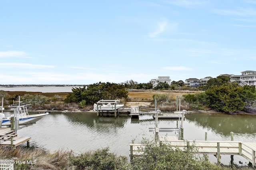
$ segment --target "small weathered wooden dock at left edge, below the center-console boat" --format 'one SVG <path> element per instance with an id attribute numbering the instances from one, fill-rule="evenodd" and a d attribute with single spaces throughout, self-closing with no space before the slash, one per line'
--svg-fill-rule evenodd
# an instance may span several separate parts
<path id="1" fill-rule="evenodd" d="M 29 140 L 31 137 L 20 137 L 10 127 L 0 128 L 0 146 L 3 147 L 17 147 L 18 145 L 27 142 L 29 147 Z"/>

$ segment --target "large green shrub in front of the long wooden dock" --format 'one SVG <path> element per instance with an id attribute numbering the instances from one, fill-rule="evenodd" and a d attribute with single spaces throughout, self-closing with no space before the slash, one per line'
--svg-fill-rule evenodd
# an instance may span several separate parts
<path id="1" fill-rule="evenodd" d="M 186 141 L 184 141 L 186 142 Z M 212 164 L 208 156 L 198 156 L 194 146 L 172 148 L 164 143 L 144 140 L 143 154 L 131 161 L 132 170 L 218 170 L 219 166 Z"/>

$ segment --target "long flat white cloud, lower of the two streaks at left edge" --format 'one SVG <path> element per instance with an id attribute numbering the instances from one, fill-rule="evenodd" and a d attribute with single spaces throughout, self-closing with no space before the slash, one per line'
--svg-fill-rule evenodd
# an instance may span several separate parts
<path id="1" fill-rule="evenodd" d="M 30 68 L 54 68 L 50 65 L 40 65 L 40 64 L 28 64 L 28 63 L 0 63 L 1 68 L 16 68 L 20 69 L 30 69 Z"/>

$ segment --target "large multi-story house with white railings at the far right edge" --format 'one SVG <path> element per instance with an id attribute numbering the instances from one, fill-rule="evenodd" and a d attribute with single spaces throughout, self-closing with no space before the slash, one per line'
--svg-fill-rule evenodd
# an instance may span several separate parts
<path id="1" fill-rule="evenodd" d="M 240 76 L 230 76 L 230 82 L 237 82 L 240 86 L 248 85 L 256 88 L 256 71 L 243 71 Z"/>

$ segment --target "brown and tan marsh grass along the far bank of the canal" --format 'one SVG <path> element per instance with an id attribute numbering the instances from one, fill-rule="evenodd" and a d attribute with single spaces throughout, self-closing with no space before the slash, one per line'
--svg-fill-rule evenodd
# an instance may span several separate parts
<path id="1" fill-rule="evenodd" d="M 63 102 L 63 100 L 70 94 L 70 92 L 25 92 L 25 91 L 16 91 L 16 92 L 10 92 L 6 91 L 8 95 L 10 96 L 22 96 L 25 94 L 29 95 L 42 95 L 46 96 L 47 98 L 50 98 L 51 104 L 42 104 L 46 105 L 46 108 L 42 108 L 38 105 L 35 105 L 31 110 L 32 111 L 50 111 L 50 112 L 62 112 L 62 113 L 78 113 L 78 112 L 96 112 L 93 111 L 93 107 L 83 107 L 80 108 L 79 106 L 72 106 L 72 104 L 68 104 L 66 106 Z M 124 102 L 124 107 L 130 107 L 130 106 L 140 106 L 140 107 L 151 107 L 154 108 L 154 100 L 153 95 L 166 95 L 168 96 L 168 104 L 172 104 L 171 107 L 168 107 L 168 109 L 172 109 L 173 112 L 176 111 L 176 97 L 179 99 L 182 98 L 183 94 L 195 94 L 197 91 L 191 91 L 191 90 L 128 90 L 128 102 Z M 57 96 L 57 97 L 56 97 Z M 48 106 L 47 106 L 48 105 Z M 53 105 L 53 106 L 49 106 Z M 165 104 L 162 104 L 162 108 L 160 108 L 161 111 L 165 111 Z M 49 107 L 47 109 L 47 107 Z M 157 105 L 157 107 L 159 107 Z M 161 107 L 161 106 L 160 106 Z M 220 112 L 214 109 L 210 108 L 204 108 L 202 109 L 188 109 L 190 108 L 187 103 L 181 103 L 181 108 L 188 111 L 188 113 L 224 113 Z M 8 107 L 6 107 L 6 111 L 8 111 Z M 121 111 L 122 112 L 122 111 Z M 226 114 L 226 113 L 225 113 Z M 245 112 L 245 111 L 236 111 L 234 114 L 247 114 L 247 115 L 256 115 L 256 111 L 251 112 Z"/>

